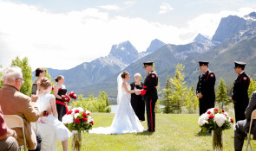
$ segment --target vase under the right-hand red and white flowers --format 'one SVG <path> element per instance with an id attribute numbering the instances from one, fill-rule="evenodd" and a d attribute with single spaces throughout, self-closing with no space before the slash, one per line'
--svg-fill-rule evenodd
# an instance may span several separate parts
<path id="1" fill-rule="evenodd" d="M 222 151 L 222 130 L 213 130 L 213 151 Z"/>

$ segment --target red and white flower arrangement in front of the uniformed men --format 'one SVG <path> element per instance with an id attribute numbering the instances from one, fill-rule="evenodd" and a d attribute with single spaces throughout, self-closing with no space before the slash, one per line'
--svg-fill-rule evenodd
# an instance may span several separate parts
<path id="1" fill-rule="evenodd" d="M 203 132 L 207 132 L 208 130 L 230 129 L 233 119 L 225 110 L 212 108 L 199 117 L 198 123 Z"/>

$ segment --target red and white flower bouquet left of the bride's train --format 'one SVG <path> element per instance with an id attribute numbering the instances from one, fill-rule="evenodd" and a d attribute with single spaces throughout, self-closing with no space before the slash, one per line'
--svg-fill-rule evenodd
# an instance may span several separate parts
<path id="1" fill-rule="evenodd" d="M 89 110 L 83 110 L 81 107 L 73 108 L 62 117 L 62 123 L 64 123 L 69 130 L 77 130 L 78 133 L 81 133 L 83 130 L 92 129 L 94 120 L 89 115 Z"/>

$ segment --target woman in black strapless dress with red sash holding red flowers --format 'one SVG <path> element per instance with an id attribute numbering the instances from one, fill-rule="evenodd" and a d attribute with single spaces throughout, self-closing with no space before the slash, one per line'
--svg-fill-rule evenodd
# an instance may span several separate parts
<path id="1" fill-rule="evenodd" d="M 62 116 L 64 116 L 69 110 L 67 104 L 62 101 L 62 95 L 67 93 L 66 86 L 63 85 L 64 80 L 65 79 L 62 75 L 56 77 L 55 81 L 57 84 L 54 87 L 54 96 L 56 97 L 56 109 L 59 121 L 62 121 Z"/>

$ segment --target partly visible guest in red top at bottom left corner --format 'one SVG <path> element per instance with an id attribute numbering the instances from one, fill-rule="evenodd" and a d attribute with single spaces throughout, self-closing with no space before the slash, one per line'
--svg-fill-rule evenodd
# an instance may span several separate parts
<path id="1" fill-rule="evenodd" d="M 0 151 L 2 150 L 17 151 L 18 144 L 16 142 L 16 131 L 7 128 L 0 106 Z"/>

